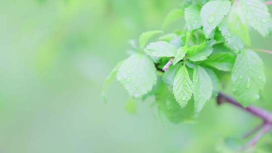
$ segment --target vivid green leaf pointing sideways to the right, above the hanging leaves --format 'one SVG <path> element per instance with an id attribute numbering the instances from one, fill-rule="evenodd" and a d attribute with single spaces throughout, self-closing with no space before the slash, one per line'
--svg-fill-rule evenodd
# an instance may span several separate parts
<path id="1" fill-rule="evenodd" d="M 231 71 L 235 62 L 235 56 L 229 52 L 218 52 L 212 54 L 203 63 L 222 71 Z"/>

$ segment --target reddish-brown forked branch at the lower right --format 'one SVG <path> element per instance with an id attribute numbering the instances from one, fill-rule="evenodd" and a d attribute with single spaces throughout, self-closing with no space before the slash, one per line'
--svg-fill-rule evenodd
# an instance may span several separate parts
<path id="1" fill-rule="evenodd" d="M 253 129 L 251 132 L 247 133 L 244 137 L 248 137 L 255 132 L 257 134 L 243 147 L 243 149 L 246 149 L 252 145 L 255 145 L 258 140 L 267 132 L 269 132 L 272 128 L 272 113 L 270 113 L 267 110 L 264 110 L 259 107 L 255 106 L 249 106 L 249 107 L 243 107 L 240 103 L 238 103 L 234 98 L 225 95 L 223 93 L 219 93 L 217 97 L 217 103 L 218 105 L 221 105 L 223 103 L 232 104 L 246 112 L 251 113 L 254 116 L 257 116 L 263 120 L 263 124 L 258 125 L 255 129 Z"/>

